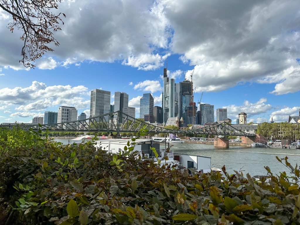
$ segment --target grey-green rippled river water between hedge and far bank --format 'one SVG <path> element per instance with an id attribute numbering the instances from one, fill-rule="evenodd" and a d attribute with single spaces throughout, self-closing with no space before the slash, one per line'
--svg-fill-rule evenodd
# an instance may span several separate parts
<path id="1" fill-rule="evenodd" d="M 55 139 L 63 144 L 72 143 L 68 139 Z M 80 143 L 80 141 L 79 141 Z M 171 147 L 174 153 L 187 155 L 199 155 L 211 158 L 211 167 L 220 168 L 225 165 L 229 174 L 234 170 L 242 171 L 244 175 L 249 173 L 251 176 L 267 175 L 264 166 L 268 166 L 273 174 L 279 174 L 288 168 L 282 165 L 275 158 L 289 158 L 289 163 L 295 167 L 300 163 L 300 149 L 281 149 L 281 148 L 253 148 L 245 146 L 229 146 L 229 148 L 215 148 L 209 144 L 176 143 Z"/>

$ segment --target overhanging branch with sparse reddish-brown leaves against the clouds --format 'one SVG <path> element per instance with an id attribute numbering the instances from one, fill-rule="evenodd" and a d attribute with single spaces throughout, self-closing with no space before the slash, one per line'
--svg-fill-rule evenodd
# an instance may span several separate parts
<path id="1" fill-rule="evenodd" d="M 58 9 L 61 0 L 0 0 L 0 8 L 12 16 L 13 22 L 8 24 L 8 29 L 13 32 L 14 28 L 23 30 L 20 40 L 24 45 L 21 50 L 22 62 L 25 67 L 34 68 L 32 64 L 41 58 L 46 52 L 52 52 L 51 44 L 58 46 L 58 41 L 53 33 L 61 30 L 59 23 L 64 22 L 61 15 L 54 14 L 53 9 Z"/>

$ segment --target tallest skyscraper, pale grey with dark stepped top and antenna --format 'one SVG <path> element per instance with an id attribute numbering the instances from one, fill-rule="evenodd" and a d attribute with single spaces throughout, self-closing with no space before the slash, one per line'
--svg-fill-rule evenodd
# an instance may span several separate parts
<path id="1" fill-rule="evenodd" d="M 176 117 L 179 113 L 179 84 L 175 83 L 175 79 L 169 79 L 167 68 L 164 68 L 164 93 L 162 100 L 163 121 L 166 123 L 169 117 Z"/>

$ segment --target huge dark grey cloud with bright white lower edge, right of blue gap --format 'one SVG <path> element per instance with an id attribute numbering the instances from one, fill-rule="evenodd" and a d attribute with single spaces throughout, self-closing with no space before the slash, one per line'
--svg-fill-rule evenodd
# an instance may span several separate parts
<path id="1" fill-rule="evenodd" d="M 172 51 L 195 65 L 196 87 L 221 91 L 240 82 L 264 81 L 277 83 L 272 92 L 277 95 L 300 89 L 295 69 L 300 2 L 164 2 L 174 29 Z"/>

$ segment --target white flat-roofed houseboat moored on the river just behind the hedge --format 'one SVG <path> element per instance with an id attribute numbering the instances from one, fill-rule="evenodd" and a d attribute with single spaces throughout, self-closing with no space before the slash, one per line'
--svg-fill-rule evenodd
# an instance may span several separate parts
<path id="1" fill-rule="evenodd" d="M 128 141 L 131 143 L 131 139 L 106 139 L 96 141 L 97 147 L 107 150 L 112 153 L 119 153 L 125 146 L 127 146 Z M 134 141 L 134 150 L 138 151 L 143 158 L 143 160 L 154 160 L 157 161 L 155 154 L 150 148 L 155 148 L 161 160 L 160 166 L 165 164 L 175 166 L 176 168 L 188 169 L 192 168 L 198 172 L 208 173 L 211 172 L 211 158 L 203 157 L 198 155 L 185 155 L 179 153 L 173 153 L 173 151 L 166 151 L 165 149 L 160 149 L 161 143 L 155 143 L 151 139 L 137 139 Z M 128 147 L 128 146 L 127 146 Z M 168 156 L 168 160 L 164 159 L 164 155 Z"/>

